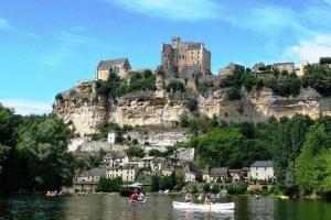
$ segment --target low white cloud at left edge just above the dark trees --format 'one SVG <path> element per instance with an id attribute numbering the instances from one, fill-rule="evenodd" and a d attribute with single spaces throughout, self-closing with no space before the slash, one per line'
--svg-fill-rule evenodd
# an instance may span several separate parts
<path id="1" fill-rule="evenodd" d="M 52 105 L 42 101 L 26 99 L 0 99 L 0 103 L 13 108 L 17 113 L 22 116 L 43 114 L 52 112 Z"/>

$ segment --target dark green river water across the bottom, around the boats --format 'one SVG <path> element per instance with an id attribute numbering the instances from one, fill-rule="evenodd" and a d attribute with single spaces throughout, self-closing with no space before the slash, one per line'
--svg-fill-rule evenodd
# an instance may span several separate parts
<path id="1" fill-rule="evenodd" d="M 222 198 L 221 202 L 235 202 L 235 210 L 227 213 L 201 213 L 172 208 L 172 201 L 182 196 L 149 195 L 148 201 L 131 205 L 128 198 L 114 195 L 0 197 L 0 219 L 279 219 L 331 220 L 331 202 L 322 200 L 281 200 L 245 196 Z"/>

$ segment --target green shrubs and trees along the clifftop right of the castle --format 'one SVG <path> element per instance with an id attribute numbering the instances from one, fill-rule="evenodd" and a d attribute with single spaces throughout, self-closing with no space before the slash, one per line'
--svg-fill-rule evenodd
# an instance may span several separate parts
<path id="1" fill-rule="evenodd" d="M 302 78 L 296 74 L 289 74 L 286 70 L 279 72 L 266 66 L 263 74 L 237 70 L 227 78 L 221 80 L 221 88 L 228 88 L 227 96 L 229 100 L 239 99 L 239 90 L 244 87 L 247 91 L 253 88 L 259 90 L 264 86 L 273 89 L 278 96 L 298 96 L 301 87 L 314 88 L 322 96 L 331 95 L 331 68 L 328 66 L 330 57 L 322 57 L 320 65 L 308 65 Z"/>

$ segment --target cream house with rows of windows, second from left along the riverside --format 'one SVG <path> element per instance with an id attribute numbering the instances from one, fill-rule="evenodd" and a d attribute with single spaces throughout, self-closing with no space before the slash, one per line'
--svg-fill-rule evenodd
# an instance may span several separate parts
<path id="1" fill-rule="evenodd" d="M 116 178 L 120 177 L 124 182 L 132 183 L 136 180 L 139 173 L 137 165 L 125 164 L 122 166 L 107 168 L 106 177 Z"/>

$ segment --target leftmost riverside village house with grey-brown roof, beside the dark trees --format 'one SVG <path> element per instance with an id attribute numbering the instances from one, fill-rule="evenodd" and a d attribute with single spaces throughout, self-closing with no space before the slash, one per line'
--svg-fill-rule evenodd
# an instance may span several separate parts
<path id="1" fill-rule="evenodd" d="M 73 182 L 76 191 L 95 191 L 99 179 L 106 176 L 106 168 L 92 168 L 77 174 Z"/>

